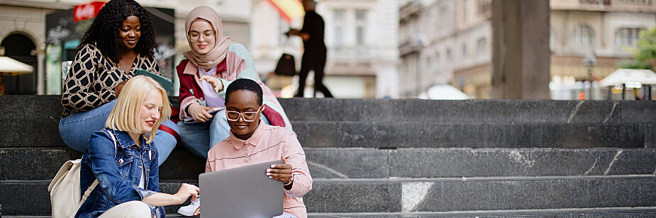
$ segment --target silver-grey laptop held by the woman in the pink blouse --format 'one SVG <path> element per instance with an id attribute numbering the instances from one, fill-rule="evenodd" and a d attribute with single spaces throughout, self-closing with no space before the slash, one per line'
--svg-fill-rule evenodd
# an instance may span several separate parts
<path id="1" fill-rule="evenodd" d="M 282 182 L 265 173 L 282 160 L 202 173 L 201 217 L 271 218 L 282 214 Z"/>

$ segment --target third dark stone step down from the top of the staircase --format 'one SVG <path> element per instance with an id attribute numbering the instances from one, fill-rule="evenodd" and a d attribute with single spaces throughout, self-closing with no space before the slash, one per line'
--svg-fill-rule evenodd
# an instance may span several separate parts
<path id="1" fill-rule="evenodd" d="M 306 148 L 313 178 L 606 176 L 656 173 L 656 149 L 344 149 Z M 0 149 L 0 180 L 47 180 L 77 151 Z M 196 180 L 205 160 L 175 149 L 162 179 Z M 26 171 L 25 169 L 29 169 Z"/>

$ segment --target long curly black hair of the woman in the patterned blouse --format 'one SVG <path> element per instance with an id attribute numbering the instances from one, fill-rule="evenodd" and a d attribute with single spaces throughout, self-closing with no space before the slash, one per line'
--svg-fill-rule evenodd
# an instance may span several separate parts
<path id="1" fill-rule="evenodd" d="M 107 2 L 98 12 L 87 33 L 84 33 L 79 47 L 87 44 L 96 45 L 104 56 L 118 63 L 121 59 L 118 54 L 118 31 L 128 16 L 137 16 L 141 25 L 141 37 L 134 50 L 146 57 L 152 57 L 157 52 L 155 26 L 152 25 L 150 13 L 134 0 Z"/>

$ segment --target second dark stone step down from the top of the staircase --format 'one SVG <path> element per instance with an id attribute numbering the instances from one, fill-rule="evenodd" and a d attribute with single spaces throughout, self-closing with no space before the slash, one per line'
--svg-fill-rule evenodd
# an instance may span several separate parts
<path id="1" fill-rule="evenodd" d="M 52 120 L 0 120 L 0 147 L 65 147 Z M 45 122 L 52 122 L 45 124 Z M 632 124 L 292 122 L 304 147 L 643 148 L 656 122 Z M 22 128 L 21 128 L 22 127 Z M 21 131 L 16 131 L 21 130 Z"/>

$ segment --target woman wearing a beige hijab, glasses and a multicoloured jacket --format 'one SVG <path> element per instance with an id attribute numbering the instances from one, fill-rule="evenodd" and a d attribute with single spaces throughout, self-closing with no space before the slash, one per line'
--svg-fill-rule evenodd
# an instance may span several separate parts
<path id="1" fill-rule="evenodd" d="M 291 123 L 269 87 L 260 81 L 250 52 L 223 35 L 221 17 L 209 6 L 191 10 L 184 22 L 191 50 L 176 67 L 180 79 L 180 138 L 192 153 L 207 158 L 207 151 L 230 135 L 226 119 L 226 87 L 236 79 L 251 79 L 262 87 L 262 119 L 265 124 L 286 127 Z M 194 206 L 195 205 L 195 206 Z M 191 215 L 198 202 L 182 207 Z"/>

